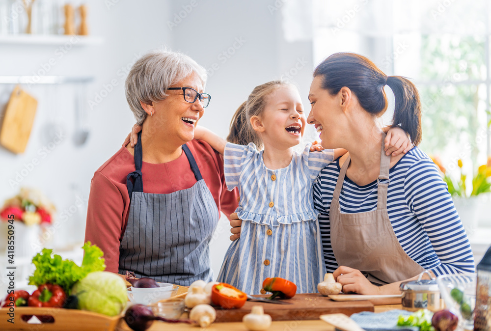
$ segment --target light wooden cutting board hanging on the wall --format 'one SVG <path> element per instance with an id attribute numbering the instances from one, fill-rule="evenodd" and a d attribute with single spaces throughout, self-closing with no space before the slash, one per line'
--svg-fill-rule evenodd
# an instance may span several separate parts
<path id="1" fill-rule="evenodd" d="M 36 114 L 37 100 L 15 86 L 3 117 L 0 144 L 13 153 L 24 153 Z"/>

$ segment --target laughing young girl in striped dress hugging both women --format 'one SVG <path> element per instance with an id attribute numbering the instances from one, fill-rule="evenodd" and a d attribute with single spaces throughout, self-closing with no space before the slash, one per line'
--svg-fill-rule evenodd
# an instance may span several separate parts
<path id="1" fill-rule="evenodd" d="M 257 86 L 236 111 L 228 140 L 246 146 L 195 128 L 194 138 L 224 154 L 227 189 L 240 193 L 241 237 L 228 248 L 218 281 L 259 294 L 265 278 L 282 277 L 298 293 L 317 292 L 326 269 L 312 186 L 320 170 L 346 151 L 310 151 L 308 144 L 298 154 L 304 130 L 299 92 L 283 81 Z M 409 140 L 402 129 L 392 131 L 389 147 Z"/>

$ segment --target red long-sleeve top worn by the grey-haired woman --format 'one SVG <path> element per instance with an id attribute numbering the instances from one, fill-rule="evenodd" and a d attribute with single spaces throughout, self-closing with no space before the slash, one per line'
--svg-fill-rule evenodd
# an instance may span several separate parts
<path id="1" fill-rule="evenodd" d="M 118 272 L 119 246 L 126 230 L 130 212 L 130 196 L 126 188 L 126 176 L 135 171 L 133 155 L 126 149 L 129 140 L 121 149 L 94 173 L 90 183 L 87 207 L 85 241 L 91 241 L 104 252 L 106 271 Z M 226 189 L 223 174 L 223 157 L 202 140 L 187 143 L 208 189 L 217 204 L 218 211 L 229 217 L 238 206 L 237 189 Z M 145 193 L 172 193 L 191 188 L 196 178 L 182 153 L 168 163 L 141 166 L 143 191 Z"/>

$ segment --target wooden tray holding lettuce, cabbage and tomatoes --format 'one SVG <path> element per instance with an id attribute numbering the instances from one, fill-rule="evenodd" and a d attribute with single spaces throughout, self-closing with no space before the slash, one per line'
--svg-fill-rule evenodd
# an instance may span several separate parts
<path id="1" fill-rule="evenodd" d="M 0 309 L 0 330 L 114 330 L 120 318 L 118 316 L 106 316 L 78 309 L 63 308 L 38 308 L 16 307 L 14 310 L 14 323 L 9 323 L 11 318 L 8 308 Z M 29 315 L 39 316 L 45 323 L 29 324 Z M 24 316 L 24 319 L 23 319 Z"/>

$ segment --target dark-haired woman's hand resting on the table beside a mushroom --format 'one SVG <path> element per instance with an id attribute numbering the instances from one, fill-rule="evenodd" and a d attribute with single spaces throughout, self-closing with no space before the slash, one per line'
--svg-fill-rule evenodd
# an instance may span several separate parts
<path id="1" fill-rule="evenodd" d="M 357 294 L 378 295 L 379 287 L 372 284 L 363 274 L 346 266 L 337 268 L 333 273 L 334 279 L 343 285 L 343 292 L 355 292 Z"/>

